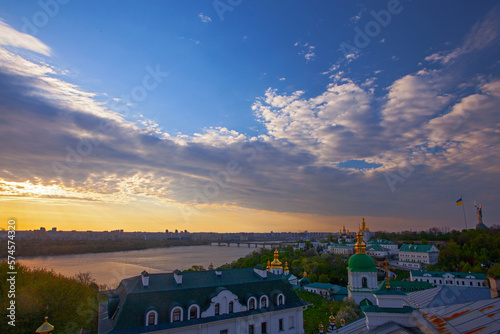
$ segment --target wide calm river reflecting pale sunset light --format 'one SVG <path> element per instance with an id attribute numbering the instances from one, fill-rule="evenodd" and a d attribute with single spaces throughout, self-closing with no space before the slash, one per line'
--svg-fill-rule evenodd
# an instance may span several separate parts
<path id="1" fill-rule="evenodd" d="M 255 251 L 248 247 L 179 246 L 134 251 L 87 253 L 77 255 L 38 256 L 20 258 L 19 263 L 28 267 L 53 269 L 65 276 L 90 272 L 98 284 L 114 288 L 127 277 L 149 273 L 184 270 L 193 265 L 207 268 L 231 263 Z"/>

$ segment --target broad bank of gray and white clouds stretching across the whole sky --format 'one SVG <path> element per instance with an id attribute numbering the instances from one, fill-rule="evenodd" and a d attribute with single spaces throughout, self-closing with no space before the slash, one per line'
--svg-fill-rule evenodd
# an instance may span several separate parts
<path id="1" fill-rule="evenodd" d="M 443 208 L 457 187 L 495 203 L 498 80 L 467 93 L 446 68 L 385 84 L 330 70 L 338 77 L 317 93 L 270 87 L 257 98 L 259 137 L 223 126 L 169 134 L 152 120 L 126 121 L 59 69 L 0 48 L 0 196 L 443 224 L 453 223 Z M 399 173 L 416 150 L 425 159 L 392 193 L 384 173 Z M 379 167 L 343 167 L 353 161 Z"/>

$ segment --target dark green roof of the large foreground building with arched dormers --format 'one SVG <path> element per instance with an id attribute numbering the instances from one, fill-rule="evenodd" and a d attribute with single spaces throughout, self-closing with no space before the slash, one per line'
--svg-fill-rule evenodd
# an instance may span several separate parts
<path id="1" fill-rule="evenodd" d="M 187 307 L 190 304 L 196 303 L 203 312 L 210 306 L 211 297 L 222 290 L 231 291 L 238 296 L 239 302 L 243 305 L 246 304 L 249 296 L 257 297 L 263 294 L 269 297 L 270 308 L 298 307 L 303 303 L 290 282 L 282 275 L 268 272 L 267 278 L 264 279 L 256 274 L 253 268 L 222 270 L 221 276 L 217 276 L 214 271 L 183 272 L 182 276 L 182 285 L 177 285 L 173 273 L 150 274 L 147 288 L 142 286 L 141 276 L 122 280 L 115 290 L 120 302 L 113 319 L 113 330 L 120 331 L 126 328 L 142 328 L 143 330 L 146 312 L 152 309 L 158 312 L 158 326 L 162 329 L 178 327 L 179 322 L 170 323 L 168 319 L 175 305 L 184 309 L 184 317 L 187 319 Z M 276 305 L 278 293 L 284 294 L 285 305 Z M 238 314 L 237 316 L 242 316 Z M 219 317 L 224 316 L 228 315 Z M 216 320 L 211 318 L 185 320 L 181 323 L 185 326 L 194 324 L 196 320 L 202 322 Z M 150 329 L 150 327 L 147 328 Z M 135 331 L 132 332 L 135 333 Z"/>

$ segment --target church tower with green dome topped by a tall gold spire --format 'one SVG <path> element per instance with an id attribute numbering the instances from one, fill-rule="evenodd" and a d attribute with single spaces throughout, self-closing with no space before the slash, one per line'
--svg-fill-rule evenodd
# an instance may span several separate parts
<path id="1" fill-rule="evenodd" d="M 356 237 L 356 254 L 352 255 L 347 263 L 349 276 L 347 289 L 349 297 L 354 298 L 357 304 L 365 298 L 375 303 L 376 300 L 373 296 L 373 291 L 378 289 L 377 266 L 375 260 L 371 256 L 366 255 L 366 244 L 363 241 L 363 232 L 361 229 Z"/>

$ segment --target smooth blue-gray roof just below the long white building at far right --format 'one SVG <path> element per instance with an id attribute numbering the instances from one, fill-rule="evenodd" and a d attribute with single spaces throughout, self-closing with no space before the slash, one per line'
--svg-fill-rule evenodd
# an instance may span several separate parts
<path id="1" fill-rule="evenodd" d="M 491 299 L 489 289 L 445 285 L 434 289 L 410 292 L 406 296 L 407 304 L 415 308 L 437 307 L 483 299 Z"/>

